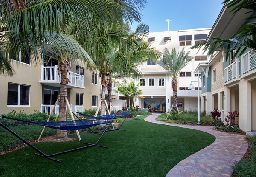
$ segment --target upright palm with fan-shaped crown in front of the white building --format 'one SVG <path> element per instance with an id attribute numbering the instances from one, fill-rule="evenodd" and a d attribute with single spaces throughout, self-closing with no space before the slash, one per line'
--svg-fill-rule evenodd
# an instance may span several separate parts
<path id="1" fill-rule="evenodd" d="M 173 48 L 170 53 L 169 49 L 165 48 L 163 51 L 163 57 L 157 60 L 157 63 L 162 66 L 172 78 L 172 90 L 173 90 L 173 104 L 177 104 L 177 87 L 178 77 L 180 76 L 180 70 L 185 67 L 192 60 L 192 56 L 189 56 L 189 52 L 185 53 L 184 48 L 180 52 L 176 52 Z"/>

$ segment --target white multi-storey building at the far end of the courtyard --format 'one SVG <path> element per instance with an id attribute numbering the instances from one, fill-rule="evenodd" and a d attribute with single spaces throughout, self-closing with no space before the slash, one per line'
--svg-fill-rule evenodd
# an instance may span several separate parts
<path id="1" fill-rule="evenodd" d="M 198 84 L 194 84 L 195 90 L 188 90 L 191 81 L 197 81 L 197 74 L 193 71 L 200 62 L 207 62 L 206 53 L 198 49 L 190 49 L 192 45 L 204 42 L 210 32 L 211 28 L 188 29 L 178 31 L 164 31 L 150 33 L 146 39 L 151 47 L 158 51 L 164 51 L 168 48 L 170 51 L 175 48 L 181 51 L 185 48 L 186 52 L 190 52 L 189 56 L 193 59 L 184 67 L 178 78 L 177 90 L 177 106 L 180 110 L 198 110 Z M 137 80 L 140 82 L 140 90 L 143 93 L 140 96 L 145 98 L 135 99 L 135 105 L 142 108 L 151 108 L 153 112 L 159 112 L 170 109 L 173 103 L 173 92 L 171 82 L 172 79 L 168 72 L 166 72 L 156 62 L 148 59 L 140 66 L 140 72 L 143 76 Z M 200 83 L 201 87 L 201 83 Z M 200 88 L 199 88 L 200 89 Z"/>

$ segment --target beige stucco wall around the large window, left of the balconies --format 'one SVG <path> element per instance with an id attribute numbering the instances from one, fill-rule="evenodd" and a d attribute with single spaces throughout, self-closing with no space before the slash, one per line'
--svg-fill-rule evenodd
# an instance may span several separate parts
<path id="1" fill-rule="evenodd" d="M 12 62 L 15 70 L 13 77 L 0 76 L 0 113 L 7 113 L 12 110 L 16 112 L 25 111 L 28 114 L 34 113 L 34 110 L 40 110 L 42 99 L 42 84 L 39 83 L 41 78 L 41 65 L 27 65 L 19 62 Z M 23 84 L 30 86 L 30 105 L 29 106 L 7 106 L 8 83 Z"/>

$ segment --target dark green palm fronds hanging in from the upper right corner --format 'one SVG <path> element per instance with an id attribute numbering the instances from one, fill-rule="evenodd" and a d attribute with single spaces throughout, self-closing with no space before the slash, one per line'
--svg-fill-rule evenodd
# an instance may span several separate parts
<path id="1" fill-rule="evenodd" d="M 225 0 L 223 3 L 226 3 L 226 8 L 232 8 L 230 12 L 233 12 L 233 14 L 243 8 L 248 9 L 248 12 L 256 11 L 256 0 L 243 0 L 242 3 L 241 0 Z M 251 18 L 256 19 L 256 16 Z M 217 50 L 225 49 L 226 59 L 228 59 L 228 55 L 234 50 L 236 51 L 234 57 L 244 54 L 247 48 L 256 50 L 256 22 L 244 24 L 244 26 L 233 35 L 232 39 L 226 40 L 213 37 L 207 42 L 194 45 L 191 48 L 201 47 L 203 47 L 205 51 L 209 50 L 208 55 L 212 55 Z"/>

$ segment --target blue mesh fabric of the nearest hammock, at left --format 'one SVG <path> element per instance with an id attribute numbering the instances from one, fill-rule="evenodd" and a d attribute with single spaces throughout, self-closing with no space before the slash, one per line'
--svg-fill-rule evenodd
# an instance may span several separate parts
<path id="1" fill-rule="evenodd" d="M 60 130 L 79 130 L 79 129 L 86 129 L 92 126 L 111 123 L 111 121 L 93 121 L 88 119 L 80 119 L 75 121 L 58 121 L 58 122 L 33 122 L 33 121 L 26 121 L 19 118 L 11 118 L 5 115 L 2 115 L 2 118 L 8 118 L 16 121 L 22 121 L 29 124 L 38 124 L 42 126 L 47 126 L 52 129 L 60 129 Z M 113 118 L 113 116 L 112 116 Z"/>

